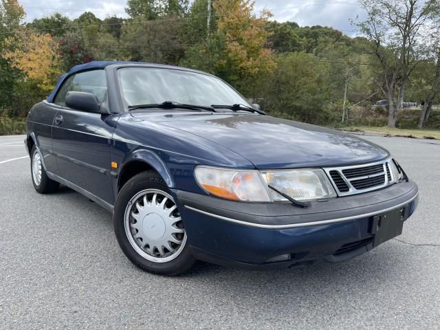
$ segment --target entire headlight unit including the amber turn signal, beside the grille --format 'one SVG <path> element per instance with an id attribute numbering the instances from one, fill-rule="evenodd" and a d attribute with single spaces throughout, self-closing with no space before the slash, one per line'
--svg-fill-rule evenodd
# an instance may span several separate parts
<path id="1" fill-rule="evenodd" d="M 195 178 L 206 192 L 233 201 L 286 200 L 268 185 L 298 201 L 336 197 L 329 179 L 319 169 L 259 172 L 197 166 Z"/>

